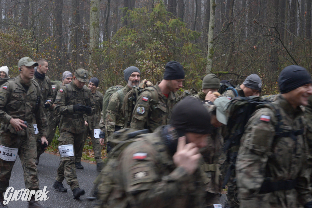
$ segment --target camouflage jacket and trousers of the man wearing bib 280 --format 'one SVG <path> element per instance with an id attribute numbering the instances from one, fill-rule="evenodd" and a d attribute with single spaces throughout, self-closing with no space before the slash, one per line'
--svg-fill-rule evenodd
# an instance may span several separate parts
<path id="1" fill-rule="evenodd" d="M 71 86 L 66 86 L 71 85 Z M 61 87 L 56 95 L 55 99 L 55 111 L 57 114 L 61 115 L 60 120 L 60 137 L 58 138 L 59 145 L 72 144 L 74 146 L 74 151 L 79 152 L 84 146 L 84 133 L 86 130 L 85 119 L 83 118 L 84 111 L 75 112 L 73 105 L 83 104 L 94 106 L 94 102 L 91 96 L 91 91 L 85 85 L 82 89 L 78 88 L 74 82 L 66 84 Z M 68 96 L 68 88 L 72 88 L 71 97 Z M 94 108 L 88 116 L 95 113 Z M 72 157 L 61 157 L 61 163 L 57 169 L 56 180 L 62 182 L 64 178 L 67 184 L 71 186 L 71 190 L 79 187 L 76 167 L 75 167 L 75 156 Z"/>

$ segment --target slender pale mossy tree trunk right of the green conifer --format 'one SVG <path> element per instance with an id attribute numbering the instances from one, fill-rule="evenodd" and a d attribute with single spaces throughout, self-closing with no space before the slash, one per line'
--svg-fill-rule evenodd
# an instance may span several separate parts
<path id="1" fill-rule="evenodd" d="M 206 74 L 210 74 L 212 70 L 212 58 L 214 54 L 213 50 L 213 28 L 216 15 L 216 1 L 210 0 L 210 19 L 209 19 L 209 31 L 208 31 L 208 42 L 207 42 L 207 66 Z"/>

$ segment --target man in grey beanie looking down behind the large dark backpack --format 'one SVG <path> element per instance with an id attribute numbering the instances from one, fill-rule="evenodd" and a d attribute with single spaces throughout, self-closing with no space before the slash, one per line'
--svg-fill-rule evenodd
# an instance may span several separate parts
<path id="1" fill-rule="evenodd" d="M 235 90 L 240 97 L 249 97 L 252 95 L 259 96 L 261 92 L 262 81 L 260 77 L 256 74 L 252 74 L 247 76 L 243 84 L 237 85 Z M 228 99 L 232 99 L 236 97 L 236 93 L 234 89 L 228 89 L 224 93 L 222 93 L 223 97 L 227 97 Z"/>

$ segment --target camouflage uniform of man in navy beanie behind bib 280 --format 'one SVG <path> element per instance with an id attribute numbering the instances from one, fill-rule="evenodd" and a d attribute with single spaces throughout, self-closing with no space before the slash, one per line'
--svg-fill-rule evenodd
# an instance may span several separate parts
<path id="1" fill-rule="evenodd" d="M 102 146 L 100 145 L 100 138 L 94 137 L 94 129 L 99 128 L 99 118 L 102 111 L 102 101 L 103 101 L 103 94 L 99 91 L 95 91 L 94 94 L 91 94 L 93 101 L 94 101 L 94 109 L 95 114 L 92 116 L 85 115 L 84 118 L 86 121 L 88 121 L 89 128 L 84 132 L 84 138 L 87 139 L 88 136 L 91 138 L 92 146 L 93 146 L 93 152 L 94 152 L 94 159 L 96 163 L 102 162 L 102 155 L 101 150 Z M 91 128 L 91 130 L 90 130 Z M 81 162 L 81 156 L 82 156 L 83 148 L 79 149 L 77 152 L 75 152 L 75 162 Z"/>

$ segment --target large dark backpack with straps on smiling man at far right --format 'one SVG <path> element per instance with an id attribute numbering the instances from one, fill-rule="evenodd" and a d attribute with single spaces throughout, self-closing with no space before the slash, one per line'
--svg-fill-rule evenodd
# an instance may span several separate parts
<path id="1" fill-rule="evenodd" d="M 222 188 L 225 188 L 231 173 L 232 175 L 233 173 L 235 175 L 235 163 L 238 149 L 240 147 L 241 137 L 245 132 L 245 126 L 248 120 L 257 109 L 266 107 L 272 109 L 272 111 L 275 113 L 275 117 L 277 118 L 278 122 L 275 125 L 275 137 L 273 143 L 275 143 L 275 140 L 280 137 L 290 136 L 293 138 L 293 136 L 303 134 L 303 129 L 297 131 L 285 131 L 283 129 L 284 124 L 282 122 L 280 111 L 273 104 L 271 104 L 271 102 L 273 102 L 275 99 L 275 95 L 265 95 L 262 97 L 235 97 L 231 99 L 231 102 L 227 107 L 227 136 L 224 138 L 224 151 L 227 151 L 227 161 L 230 166 L 224 178 Z M 271 186 L 272 182 L 265 180 L 261 187 L 261 191 L 266 189 L 271 190 Z M 282 185 L 280 187 L 282 187 Z"/>

